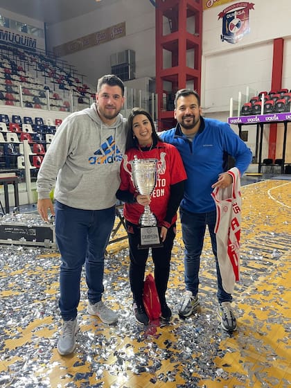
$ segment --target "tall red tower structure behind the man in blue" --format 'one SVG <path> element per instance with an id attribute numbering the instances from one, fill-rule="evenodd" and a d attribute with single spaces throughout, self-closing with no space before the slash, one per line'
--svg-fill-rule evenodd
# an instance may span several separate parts
<path id="1" fill-rule="evenodd" d="M 158 130 L 175 125 L 173 98 L 201 85 L 202 0 L 156 1 Z"/>

